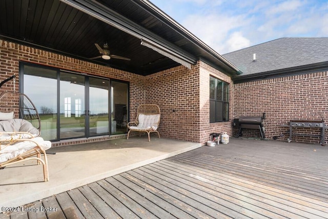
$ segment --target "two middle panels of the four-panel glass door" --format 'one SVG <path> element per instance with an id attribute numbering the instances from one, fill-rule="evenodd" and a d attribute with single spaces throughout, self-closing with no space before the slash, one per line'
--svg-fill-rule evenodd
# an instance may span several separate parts
<path id="1" fill-rule="evenodd" d="M 60 138 L 109 134 L 109 80 L 60 72 Z"/>

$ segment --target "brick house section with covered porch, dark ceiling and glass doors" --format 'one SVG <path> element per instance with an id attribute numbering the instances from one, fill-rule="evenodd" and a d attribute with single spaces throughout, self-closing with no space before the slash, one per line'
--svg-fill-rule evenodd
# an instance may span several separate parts
<path id="1" fill-rule="evenodd" d="M 232 134 L 239 70 L 150 2 L 0 4 L 0 79 L 16 75 L 2 89 L 32 99 L 55 146 L 126 137 L 142 103 L 160 107 L 162 137 Z"/>

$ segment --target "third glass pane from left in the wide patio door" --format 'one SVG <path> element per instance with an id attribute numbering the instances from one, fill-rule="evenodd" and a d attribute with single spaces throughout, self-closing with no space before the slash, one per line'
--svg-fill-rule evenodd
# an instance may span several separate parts
<path id="1" fill-rule="evenodd" d="M 89 81 L 89 136 L 109 134 L 109 81 L 91 77 Z"/>

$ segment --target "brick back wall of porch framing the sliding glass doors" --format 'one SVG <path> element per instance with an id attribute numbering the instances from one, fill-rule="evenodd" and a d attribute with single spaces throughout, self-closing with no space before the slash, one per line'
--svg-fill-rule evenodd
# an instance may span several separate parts
<path id="1" fill-rule="evenodd" d="M 136 114 L 137 104 L 145 102 L 145 77 L 130 72 L 125 72 L 110 67 L 81 61 L 56 53 L 22 46 L 0 39 L 0 81 L 15 75 L 15 90 L 18 92 L 19 84 L 19 62 L 30 62 L 39 65 L 51 66 L 60 69 L 66 69 L 75 72 L 82 72 L 88 75 L 97 75 L 112 79 L 119 79 L 130 82 L 130 113 L 131 116 Z M 14 91 L 14 83 L 10 81 L 3 85 L 0 91 Z M 105 137 L 106 138 L 106 137 Z M 105 140 L 101 139 L 101 140 Z M 108 139 L 108 137 L 106 138 Z M 98 141 L 95 139 L 65 141 L 55 145 L 79 144 L 88 141 Z M 100 140 L 99 140 L 100 141 Z"/>

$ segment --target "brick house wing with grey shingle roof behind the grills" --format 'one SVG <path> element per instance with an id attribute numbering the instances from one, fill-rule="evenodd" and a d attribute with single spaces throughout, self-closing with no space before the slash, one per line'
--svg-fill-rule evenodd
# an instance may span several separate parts
<path id="1" fill-rule="evenodd" d="M 242 74 L 234 81 L 234 116 L 266 113 L 265 136 L 286 140 L 291 120 L 328 120 L 328 37 L 285 37 L 224 54 Z M 295 133 L 318 135 L 317 128 Z M 245 136 L 259 132 L 245 130 Z M 318 137 L 297 136 L 319 143 Z M 325 132 L 325 144 L 327 132 Z"/>

